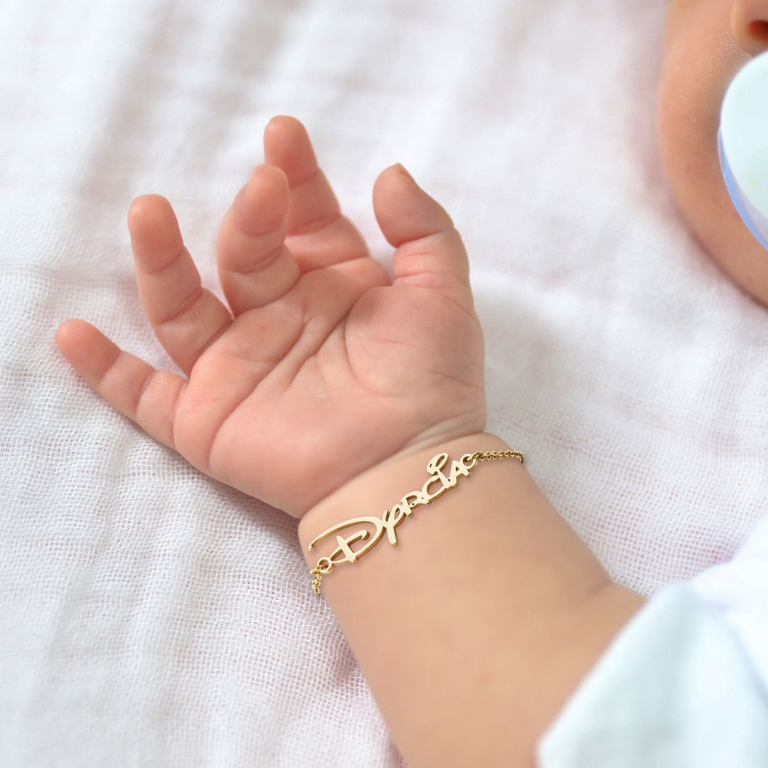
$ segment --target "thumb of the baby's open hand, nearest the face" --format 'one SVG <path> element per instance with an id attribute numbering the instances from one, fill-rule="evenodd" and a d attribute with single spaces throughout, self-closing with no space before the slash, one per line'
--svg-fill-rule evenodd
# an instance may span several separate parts
<path id="1" fill-rule="evenodd" d="M 384 237 L 397 249 L 395 282 L 432 288 L 472 310 L 462 238 L 451 217 L 402 165 L 390 166 L 376 179 L 373 211 Z"/>

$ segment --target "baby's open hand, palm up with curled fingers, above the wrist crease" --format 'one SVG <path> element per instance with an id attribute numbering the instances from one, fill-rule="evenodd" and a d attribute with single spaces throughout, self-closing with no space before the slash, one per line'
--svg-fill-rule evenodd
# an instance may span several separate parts
<path id="1" fill-rule="evenodd" d="M 482 331 L 448 214 L 400 166 L 373 189 L 393 283 L 341 215 L 293 118 L 274 118 L 200 285 L 163 197 L 128 214 L 147 319 L 184 376 L 71 319 L 59 349 L 148 434 L 211 477 L 300 518 L 398 452 L 485 426 Z"/>

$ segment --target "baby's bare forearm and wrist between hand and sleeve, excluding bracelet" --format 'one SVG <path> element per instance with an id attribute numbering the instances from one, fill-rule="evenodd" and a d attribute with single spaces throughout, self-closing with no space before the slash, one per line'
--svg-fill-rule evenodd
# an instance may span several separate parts
<path id="1" fill-rule="evenodd" d="M 380 518 L 422 488 L 436 453 L 481 449 L 508 446 L 469 435 L 339 489 L 300 524 L 310 568 L 336 548 L 331 535 L 307 551 L 320 533 Z M 398 546 L 384 535 L 326 574 L 322 590 L 406 762 L 532 763 L 536 739 L 641 598 L 611 582 L 515 459 L 458 476 L 396 533 Z"/>

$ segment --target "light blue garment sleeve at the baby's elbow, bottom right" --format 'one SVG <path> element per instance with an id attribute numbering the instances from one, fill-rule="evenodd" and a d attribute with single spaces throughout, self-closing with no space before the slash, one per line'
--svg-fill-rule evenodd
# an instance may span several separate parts
<path id="1" fill-rule="evenodd" d="M 537 756 L 539 768 L 768 768 L 768 694 L 717 609 L 674 584 L 616 637 Z"/>

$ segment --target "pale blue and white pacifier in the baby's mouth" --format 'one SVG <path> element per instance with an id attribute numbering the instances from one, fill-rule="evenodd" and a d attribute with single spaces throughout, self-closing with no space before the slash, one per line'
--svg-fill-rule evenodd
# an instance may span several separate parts
<path id="1" fill-rule="evenodd" d="M 733 204 L 768 248 L 768 53 L 744 65 L 728 87 L 717 150 Z"/>

